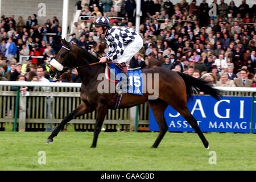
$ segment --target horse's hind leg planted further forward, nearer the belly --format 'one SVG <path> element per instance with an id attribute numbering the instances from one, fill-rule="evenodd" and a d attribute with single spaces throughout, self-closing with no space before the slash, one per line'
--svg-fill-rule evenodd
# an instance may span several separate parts
<path id="1" fill-rule="evenodd" d="M 166 110 L 168 104 L 160 98 L 158 98 L 157 100 L 149 100 L 148 103 L 154 113 L 155 120 L 159 126 L 158 138 L 156 138 L 155 143 L 152 146 L 152 148 L 157 148 L 168 130 L 166 119 L 164 119 L 164 110 Z"/>

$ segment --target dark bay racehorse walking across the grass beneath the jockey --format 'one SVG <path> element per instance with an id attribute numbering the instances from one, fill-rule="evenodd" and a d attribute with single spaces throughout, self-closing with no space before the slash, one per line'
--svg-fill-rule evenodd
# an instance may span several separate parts
<path id="1" fill-rule="evenodd" d="M 98 58 L 96 56 L 93 56 L 76 44 L 68 43 L 65 39 L 61 39 L 61 43 L 63 47 L 55 57 L 58 67 L 51 65 L 49 73 L 52 77 L 59 77 L 62 73 L 76 68 L 82 82 L 80 96 L 82 104 L 65 116 L 60 122 L 60 125 L 49 135 L 46 143 L 53 142 L 53 138 L 56 137 L 59 131 L 63 129 L 64 125 L 72 119 L 96 110 L 96 123 L 91 146 L 94 148 L 97 145 L 98 135 L 100 134 L 102 123 L 104 122 L 108 109 L 115 109 L 114 105 L 118 93 L 98 93 L 97 91 L 97 85 L 101 82 L 101 80 L 97 79 L 97 76 L 105 72 L 106 64 L 98 64 Z M 63 69 L 60 69 L 60 67 Z M 145 68 L 142 69 L 142 73 L 145 73 L 145 75 L 147 75 L 147 73 L 152 73 L 153 75 L 155 73 L 159 74 L 158 98 L 148 100 L 148 96 L 150 95 L 148 92 L 145 92 L 142 96 L 126 93 L 123 94 L 119 108 L 129 108 L 148 101 L 159 126 L 159 135 L 152 147 L 157 148 L 159 146 L 159 143 L 168 130 L 166 120 L 164 119 L 164 110 L 168 105 L 171 105 L 188 121 L 189 125 L 191 125 L 199 135 L 204 147 L 208 148 L 209 143 L 207 139 L 201 132 L 196 119 L 188 110 L 187 100 L 192 98 L 193 93 L 198 93 L 199 91 L 219 100 L 221 96 L 220 90 L 212 88 L 207 81 L 193 78 L 184 73 L 174 72 L 167 68 Z"/>

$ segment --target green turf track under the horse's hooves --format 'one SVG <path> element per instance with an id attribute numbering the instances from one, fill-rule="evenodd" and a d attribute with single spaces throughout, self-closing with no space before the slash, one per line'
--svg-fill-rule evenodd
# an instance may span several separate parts
<path id="1" fill-rule="evenodd" d="M 255 170 L 256 135 L 204 134 L 205 150 L 195 133 L 167 133 L 151 148 L 158 133 L 102 132 L 90 148 L 92 132 L 61 132 L 45 144 L 49 132 L 0 132 L 0 170 Z M 39 151 L 46 164 L 38 164 Z M 209 164 L 210 151 L 217 164 Z"/>

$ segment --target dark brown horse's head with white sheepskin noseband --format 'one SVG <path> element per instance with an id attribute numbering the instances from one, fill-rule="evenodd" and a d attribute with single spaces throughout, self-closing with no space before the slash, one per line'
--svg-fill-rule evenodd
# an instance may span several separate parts
<path id="1" fill-rule="evenodd" d="M 55 59 L 51 60 L 51 68 L 49 74 L 55 78 L 59 78 L 64 72 L 69 71 L 70 68 L 75 67 L 76 63 L 72 60 L 72 46 L 65 39 L 61 39 L 63 44 L 60 51 L 57 53 Z"/>

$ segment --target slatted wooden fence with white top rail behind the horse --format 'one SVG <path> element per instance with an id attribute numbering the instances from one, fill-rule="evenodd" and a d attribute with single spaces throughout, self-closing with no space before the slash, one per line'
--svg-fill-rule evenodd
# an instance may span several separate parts
<path id="1" fill-rule="evenodd" d="M 6 83 L 6 84 L 3 84 Z M 13 82 L 14 83 L 14 82 Z M 12 83 L 12 84 L 13 84 Z M 20 84 L 16 82 L 15 84 Z M 31 85 L 31 82 L 28 83 Z M 39 85 L 40 83 L 36 83 Z M 54 83 L 51 92 L 44 91 L 41 85 L 38 91 L 30 92 L 29 96 L 19 96 L 18 131 L 45 131 L 55 127 L 61 120 L 81 104 L 79 85 L 70 87 L 56 87 L 61 83 Z M 64 83 L 63 83 L 64 84 Z M 2 86 L 1 86 L 2 85 Z M 13 125 L 15 120 L 16 91 L 9 82 L 0 82 L 0 131 L 5 131 L 5 126 Z M 49 84 L 51 85 L 51 84 Z M 20 85 L 19 85 L 20 86 Z M 35 86 L 35 85 L 34 85 Z M 224 89 L 224 88 L 222 88 Z M 247 90 L 249 89 L 249 90 Z M 225 96 L 251 96 L 253 88 L 225 88 Z M 247 91 L 246 91 L 247 90 Z M 148 104 L 138 106 L 138 130 L 149 131 Z M 85 114 L 73 119 L 75 131 L 93 131 L 96 114 Z M 130 109 L 109 110 L 104 121 L 105 131 L 134 130 L 135 110 Z M 68 124 L 68 125 L 69 125 Z M 65 126 L 67 129 L 67 126 Z"/>

